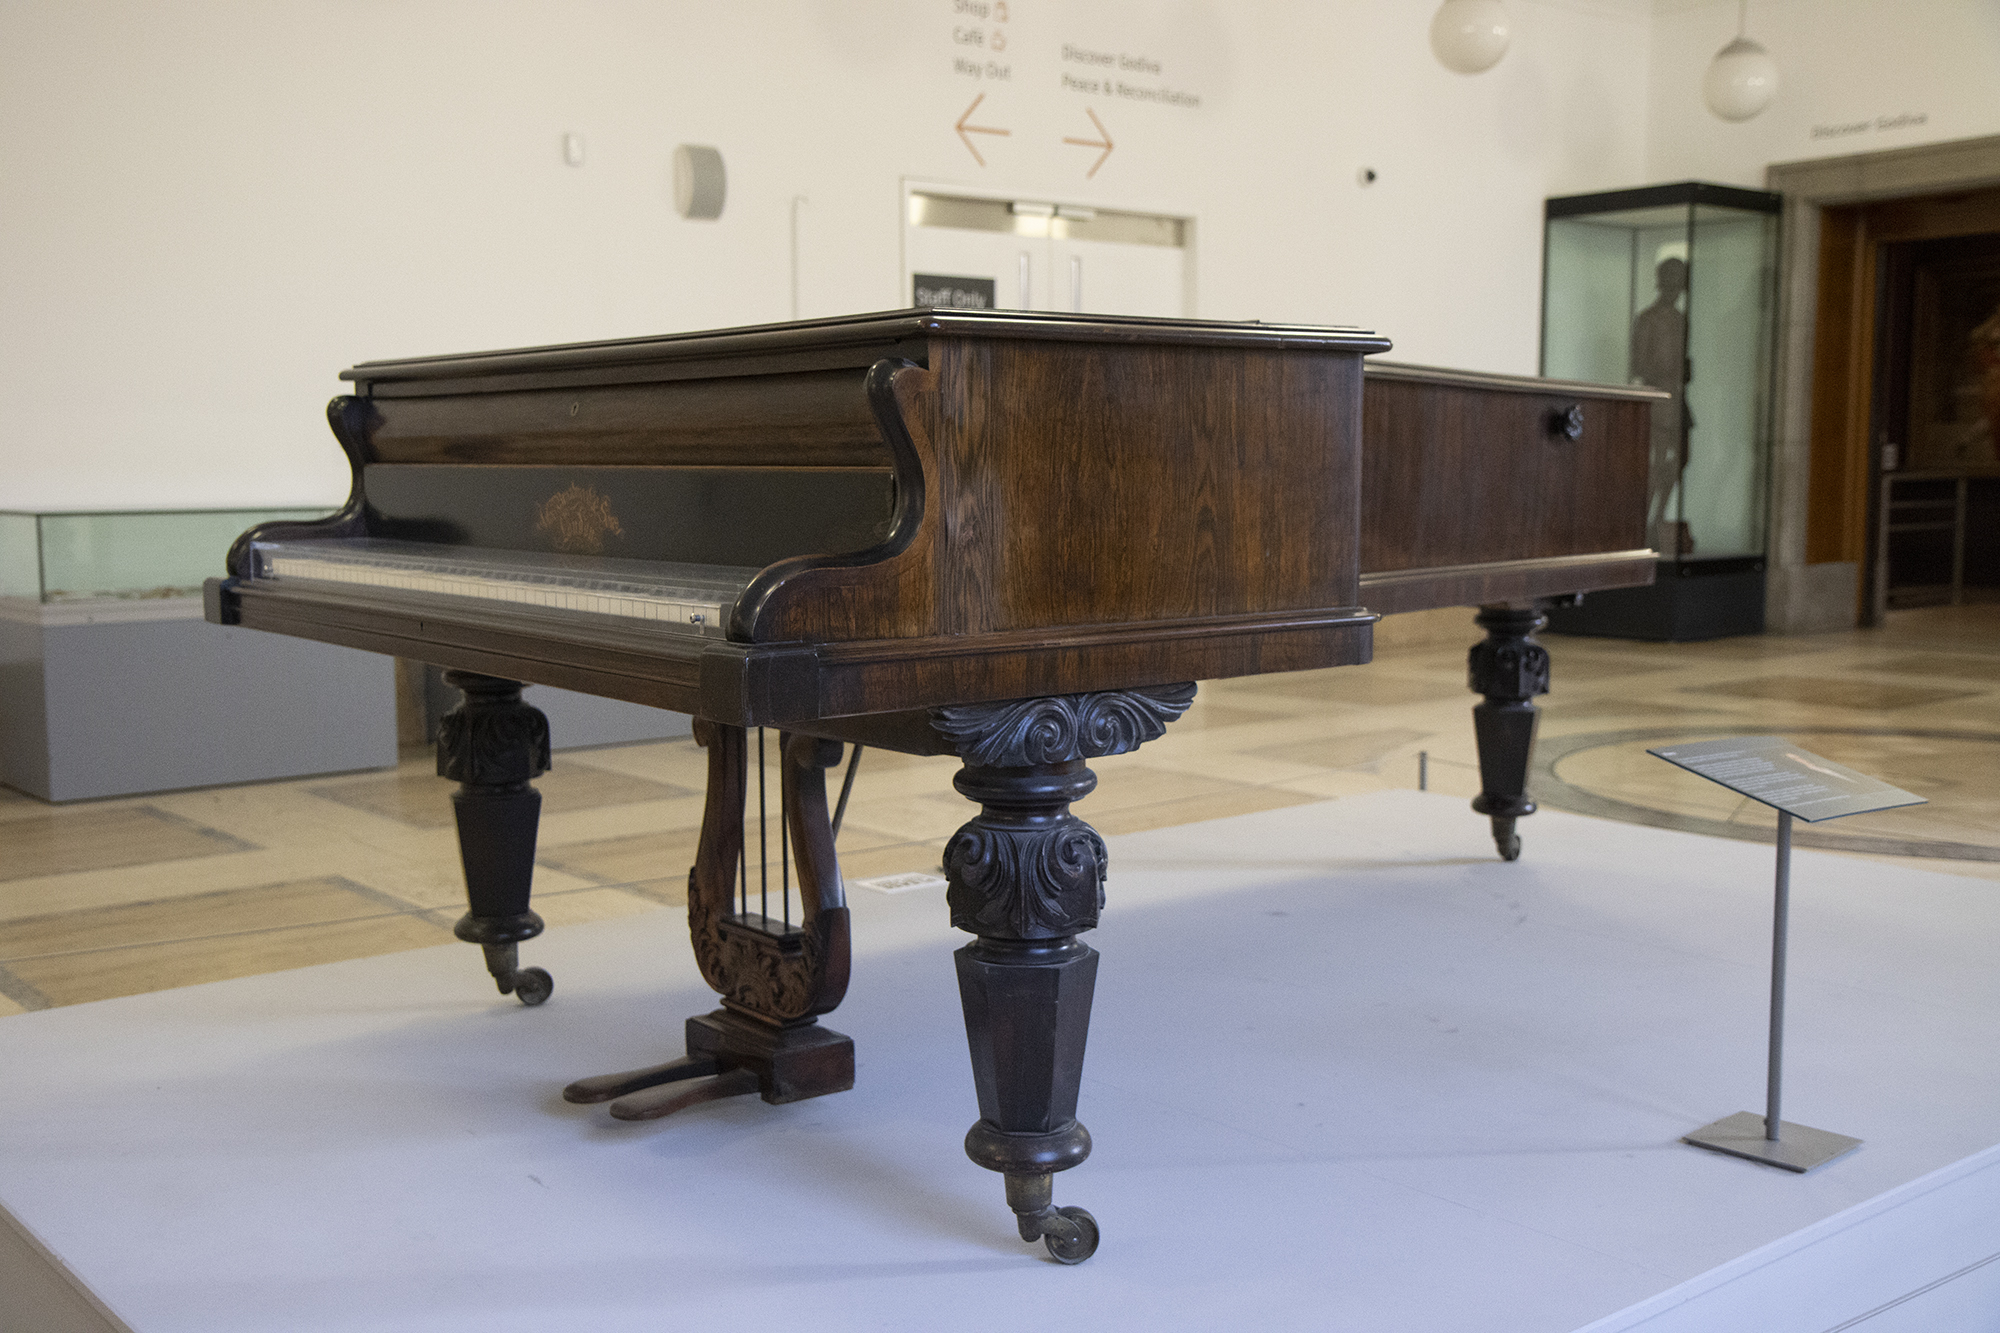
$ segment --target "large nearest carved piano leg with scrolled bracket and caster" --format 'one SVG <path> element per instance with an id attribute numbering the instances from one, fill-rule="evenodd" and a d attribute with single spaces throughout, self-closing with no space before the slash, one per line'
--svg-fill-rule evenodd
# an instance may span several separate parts
<path id="1" fill-rule="evenodd" d="M 1098 1247 L 1098 1223 L 1058 1209 L 1052 1177 L 1090 1155 L 1076 1119 L 1098 955 L 1078 935 L 1104 907 L 1104 841 L 1070 813 L 1098 785 L 1086 759 L 1122 755 L 1162 733 L 1192 685 L 1064 695 L 932 711 L 964 769 L 952 785 L 980 813 L 944 847 L 980 1119 L 966 1155 L 1006 1177 L 1020 1239 L 1058 1263 Z"/>

